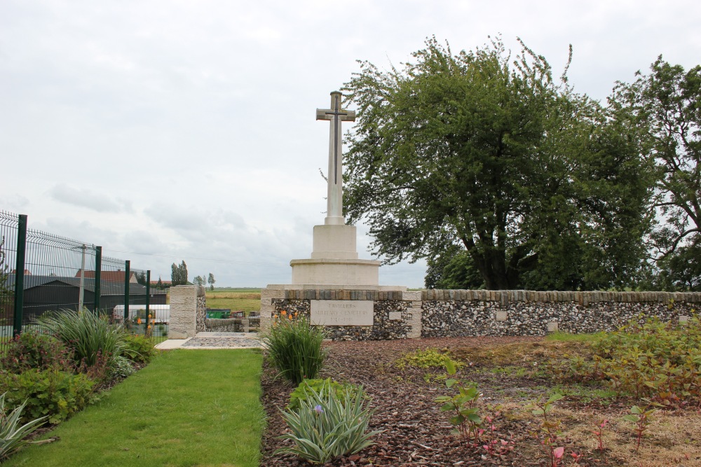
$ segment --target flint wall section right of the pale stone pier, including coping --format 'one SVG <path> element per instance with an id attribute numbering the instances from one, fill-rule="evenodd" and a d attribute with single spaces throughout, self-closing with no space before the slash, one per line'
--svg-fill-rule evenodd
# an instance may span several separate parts
<path id="1" fill-rule="evenodd" d="M 679 322 L 701 293 L 442 291 L 422 293 L 422 337 L 612 331 L 657 316 Z"/>

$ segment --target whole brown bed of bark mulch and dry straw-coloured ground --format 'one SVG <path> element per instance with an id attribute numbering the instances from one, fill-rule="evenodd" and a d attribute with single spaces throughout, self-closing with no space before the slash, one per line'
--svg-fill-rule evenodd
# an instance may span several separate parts
<path id="1" fill-rule="evenodd" d="M 556 383 L 544 370 L 547 361 L 564 353 L 586 353 L 585 344 L 548 342 L 542 337 L 458 337 L 417 340 L 327 342 L 329 356 L 321 377 L 362 384 L 372 397 L 370 429 L 383 430 L 376 444 L 327 466 L 549 466 L 540 444 L 541 419 L 531 404 L 545 400 Z M 449 352 L 465 363 L 458 376 L 477 383 L 483 393 L 482 415 L 494 417 L 477 446 L 466 445 L 451 434 L 452 426 L 435 398 L 451 395 L 443 368 L 397 368 L 395 361 L 416 349 Z M 297 457 L 273 452 L 284 442 L 276 437 L 286 426 L 278 408 L 284 408 L 294 389 L 275 379 L 267 364 L 261 377 L 262 400 L 268 414 L 261 465 L 308 466 Z M 635 400 L 606 396 L 605 386 L 564 385 L 565 397 L 555 404 L 552 417 L 561 421 L 565 447 L 563 466 L 701 466 L 701 411 L 685 405 L 658 412 L 635 452 L 632 424 L 622 420 Z M 604 397 L 599 397 L 603 395 Z M 604 452 L 597 450 L 592 433 L 608 420 Z M 482 447 L 491 439 L 505 440 L 513 449 L 502 456 Z M 572 453 L 582 456 L 576 463 Z"/>

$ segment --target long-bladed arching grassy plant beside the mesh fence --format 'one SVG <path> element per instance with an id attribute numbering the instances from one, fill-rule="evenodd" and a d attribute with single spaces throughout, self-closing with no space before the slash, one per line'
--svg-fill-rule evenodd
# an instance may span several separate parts
<path id="1" fill-rule="evenodd" d="M 87 309 L 81 312 L 64 309 L 55 314 L 44 314 L 36 319 L 39 326 L 58 337 L 74 352 L 79 365 L 91 367 L 100 354 L 108 356 L 111 363 L 122 354 L 125 333 L 121 326 L 110 324 L 107 316 Z"/>

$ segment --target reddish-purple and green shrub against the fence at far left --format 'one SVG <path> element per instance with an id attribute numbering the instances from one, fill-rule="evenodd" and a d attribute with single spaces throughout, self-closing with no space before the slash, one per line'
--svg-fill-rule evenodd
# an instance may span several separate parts
<path id="1" fill-rule="evenodd" d="M 55 337 L 27 331 L 8 342 L 0 366 L 11 373 L 29 368 L 71 371 L 73 354 Z"/>

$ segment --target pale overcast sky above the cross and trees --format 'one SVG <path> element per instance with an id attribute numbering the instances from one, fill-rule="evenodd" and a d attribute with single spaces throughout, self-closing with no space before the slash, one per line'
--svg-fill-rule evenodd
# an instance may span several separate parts
<path id="1" fill-rule="evenodd" d="M 521 37 L 605 99 L 658 55 L 701 63 L 698 1 L 0 1 L 0 210 L 102 245 L 152 277 L 287 284 L 322 224 L 329 123 L 315 109 L 426 37 Z M 362 225 L 360 258 L 369 238 Z M 381 267 L 423 285 L 425 263 Z"/>

